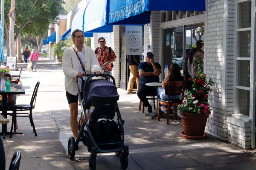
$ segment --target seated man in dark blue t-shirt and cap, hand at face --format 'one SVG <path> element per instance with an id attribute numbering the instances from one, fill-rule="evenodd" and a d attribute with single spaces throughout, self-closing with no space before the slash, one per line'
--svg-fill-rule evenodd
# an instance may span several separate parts
<path id="1" fill-rule="evenodd" d="M 157 95 L 156 88 L 145 85 L 148 82 L 159 82 L 159 75 L 161 73 L 161 66 L 159 63 L 154 62 L 153 53 L 148 52 L 146 61 L 141 62 L 138 70 L 140 74 L 140 86 L 138 89 L 138 97 L 144 103 L 145 107 L 148 107 L 148 113 L 152 113 L 152 106 L 148 102 L 146 96 Z"/>

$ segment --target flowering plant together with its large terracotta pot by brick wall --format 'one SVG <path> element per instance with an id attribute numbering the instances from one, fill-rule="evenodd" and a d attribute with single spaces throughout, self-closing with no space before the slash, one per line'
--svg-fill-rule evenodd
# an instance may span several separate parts
<path id="1" fill-rule="evenodd" d="M 206 137 L 204 129 L 211 113 L 208 103 L 209 91 L 212 91 L 212 80 L 207 82 L 206 74 L 202 71 L 202 61 L 198 62 L 198 72 L 192 81 L 192 91 L 185 91 L 184 100 L 178 106 L 182 119 L 183 132 L 181 136 L 186 139 L 203 139 Z"/>

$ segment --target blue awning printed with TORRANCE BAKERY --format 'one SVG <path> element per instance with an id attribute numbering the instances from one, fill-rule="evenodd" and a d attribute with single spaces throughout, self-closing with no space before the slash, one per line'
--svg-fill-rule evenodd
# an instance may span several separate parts
<path id="1" fill-rule="evenodd" d="M 150 11 L 205 11 L 205 0 L 110 0 L 108 23 L 149 23 Z"/>

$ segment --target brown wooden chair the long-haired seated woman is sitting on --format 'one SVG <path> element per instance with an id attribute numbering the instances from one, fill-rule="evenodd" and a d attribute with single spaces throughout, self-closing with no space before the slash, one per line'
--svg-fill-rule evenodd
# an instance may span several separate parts
<path id="1" fill-rule="evenodd" d="M 175 114 L 175 119 L 177 119 L 177 106 L 181 104 L 184 99 L 184 92 L 186 88 L 186 81 L 169 81 L 168 82 L 168 101 L 158 99 L 158 111 L 157 111 L 157 119 L 160 121 L 160 110 L 167 111 L 167 125 L 169 125 L 169 113 L 172 110 Z M 180 99 L 170 99 L 170 96 L 182 94 Z M 161 105 L 167 106 L 167 108 L 162 107 Z M 174 107 L 174 108 L 171 108 Z"/>

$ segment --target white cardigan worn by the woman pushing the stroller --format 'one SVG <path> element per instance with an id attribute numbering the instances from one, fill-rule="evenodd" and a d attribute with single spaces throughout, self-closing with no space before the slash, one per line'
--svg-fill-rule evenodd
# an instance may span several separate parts
<path id="1" fill-rule="evenodd" d="M 78 93 L 76 74 L 79 72 L 79 65 L 80 62 L 75 51 L 72 48 L 66 49 L 62 56 L 62 68 L 65 75 L 65 90 L 72 95 L 77 95 Z M 84 47 L 84 69 L 87 74 L 102 71 L 92 48 Z"/>

